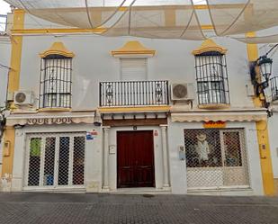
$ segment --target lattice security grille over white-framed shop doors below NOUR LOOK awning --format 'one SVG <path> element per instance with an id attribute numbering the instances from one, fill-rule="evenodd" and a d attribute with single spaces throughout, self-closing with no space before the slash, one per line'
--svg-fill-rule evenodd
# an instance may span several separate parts
<path id="1" fill-rule="evenodd" d="M 84 185 L 85 134 L 31 134 L 27 137 L 25 187 Z"/>

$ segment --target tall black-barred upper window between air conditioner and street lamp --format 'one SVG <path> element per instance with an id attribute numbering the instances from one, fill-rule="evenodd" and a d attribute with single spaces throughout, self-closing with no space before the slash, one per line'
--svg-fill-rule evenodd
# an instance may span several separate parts
<path id="1" fill-rule="evenodd" d="M 199 104 L 229 104 L 226 56 L 211 51 L 195 56 Z"/>

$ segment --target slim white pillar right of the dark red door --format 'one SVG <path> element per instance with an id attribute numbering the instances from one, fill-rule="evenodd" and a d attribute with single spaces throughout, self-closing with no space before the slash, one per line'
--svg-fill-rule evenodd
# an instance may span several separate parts
<path id="1" fill-rule="evenodd" d="M 163 187 L 168 188 L 169 184 L 169 166 L 168 166 L 168 148 L 167 148 L 167 135 L 166 125 L 161 125 L 161 139 L 162 139 L 162 153 L 163 153 Z"/>

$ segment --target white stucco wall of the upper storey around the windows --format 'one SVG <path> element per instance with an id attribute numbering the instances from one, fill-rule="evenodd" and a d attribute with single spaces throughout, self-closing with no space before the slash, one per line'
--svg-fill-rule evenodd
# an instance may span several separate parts
<path id="1" fill-rule="evenodd" d="M 39 53 L 49 49 L 53 42 L 62 41 L 67 49 L 76 54 L 73 59 L 73 109 L 93 109 L 99 103 L 99 82 L 120 80 L 120 59 L 113 58 L 111 51 L 121 48 L 129 40 L 139 40 L 149 49 L 157 50 L 157 55 L 148 59 L 149 80 L 166 79 L 171 83 L 195 84 L 192 51 L 198 48 L 202 41 L 106 38 L 93 35 L 59 38 L 25 36 L 22 44 L 20 88 L 32 90 L 38 97 Z M 252 99 L 247 97 L 246 89 L 248 83 L 246 45 L 229 39 L 218 38 L 215 41 L 229 49 L 227 61 L 232 107 L 253 107 Z M 196 106 L 197 102 L 193 104 Z"/>

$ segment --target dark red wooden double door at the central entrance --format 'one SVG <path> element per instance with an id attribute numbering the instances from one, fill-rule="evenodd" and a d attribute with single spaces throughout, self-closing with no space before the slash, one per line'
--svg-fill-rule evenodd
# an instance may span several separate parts
<path id="1" fill-rule="evenodd" d="M 154 187 L 153 131 L 118 131 L 117 145 L 118 188 Z"/>

